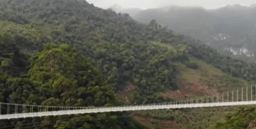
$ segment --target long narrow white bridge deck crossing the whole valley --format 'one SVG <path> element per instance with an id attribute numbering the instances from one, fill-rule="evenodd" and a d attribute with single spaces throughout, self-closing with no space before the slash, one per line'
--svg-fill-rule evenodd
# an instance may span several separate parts
<path id="1" fill-rule="evenodd" d="M 71 114 L 94 114 L 101 112 L 123 112 L 136 110 L 160 110 L 160 109 L 175 109 L 175 108 L 202 108 L 215 106 L 240 106 L 256 104 L 256 101 L 237 101 L 237 102 L 222 102 L 222 103 L 197 103 L 197 104 L 162 104 L 162 105 L 142 105 L 142 106 L 116 106 L 103 108 L 89 108 L 80 110 L 60 110 L 49 112 L 31 112 L 23 114 L 5 114 L 0 115 L 0 119 L 18 119 L 27 117 L 43 117 L 52 115 L 71 115 Z"/>

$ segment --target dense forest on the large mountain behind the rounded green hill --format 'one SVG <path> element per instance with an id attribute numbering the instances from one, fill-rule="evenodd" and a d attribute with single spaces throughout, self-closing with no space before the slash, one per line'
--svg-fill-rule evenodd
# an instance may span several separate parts
<path id="1" fill-rule="evenodd" d="M 155 21 L 138 24 L 128 15 L 86 1 L 6 0 L 1 5 L 1 30 L 23 52 L 41 50 L 47 43 L 72 45 L 100 70 L 114 91 L 123 90 L 127 82 L 136 85 L 131 103 L 157 103 L 164 100 L 158 92 L 178 88 L 176 62 L 187 57 L 177 50 L 186 48 L 186 43 Z M 26 22 L 20 23 L 21 17 Z M 174 50 L 151 43 L 158 40 L 173 43 Z"/>

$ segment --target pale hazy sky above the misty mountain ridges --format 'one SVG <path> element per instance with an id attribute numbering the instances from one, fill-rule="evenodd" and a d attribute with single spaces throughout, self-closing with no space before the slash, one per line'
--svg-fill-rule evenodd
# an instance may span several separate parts
<path id="1" fill-rule="evenodd" d="M 112 5 L 121 5 L 124 8 L 158 8 L 162 6 L 203 6 L 204 8 L 219 8 L 226 5 L 240 4 L 251 5 L 256 0 L 86 0 L 101 8 Z"/>

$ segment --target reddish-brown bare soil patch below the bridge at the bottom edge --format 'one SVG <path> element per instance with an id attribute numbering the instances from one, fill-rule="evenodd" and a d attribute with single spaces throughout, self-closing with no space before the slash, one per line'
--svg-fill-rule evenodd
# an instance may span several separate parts
<path id="1" fill-rule="evenodd" d="M 138 115 L 133 115 L 133 118 L 151 129 L 183 129 L 180 124 L 176 123 L 176 121 L 140 117 Z"/>

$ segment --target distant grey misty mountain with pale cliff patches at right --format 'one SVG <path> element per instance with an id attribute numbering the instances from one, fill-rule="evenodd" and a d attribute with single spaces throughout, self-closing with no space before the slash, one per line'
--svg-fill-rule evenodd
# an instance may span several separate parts
<path id="1" fill-rule="evenodd" d="M 124 13 L 129 13 L 125 12 Z M 256 7 L 232 5 L 206 10 L 199 7 L 169 6 L 148 9 L 132 15 L 142 23 L 156 19 L 176 33 L 200 39 L 219 52 L 255 61 Z"/>

